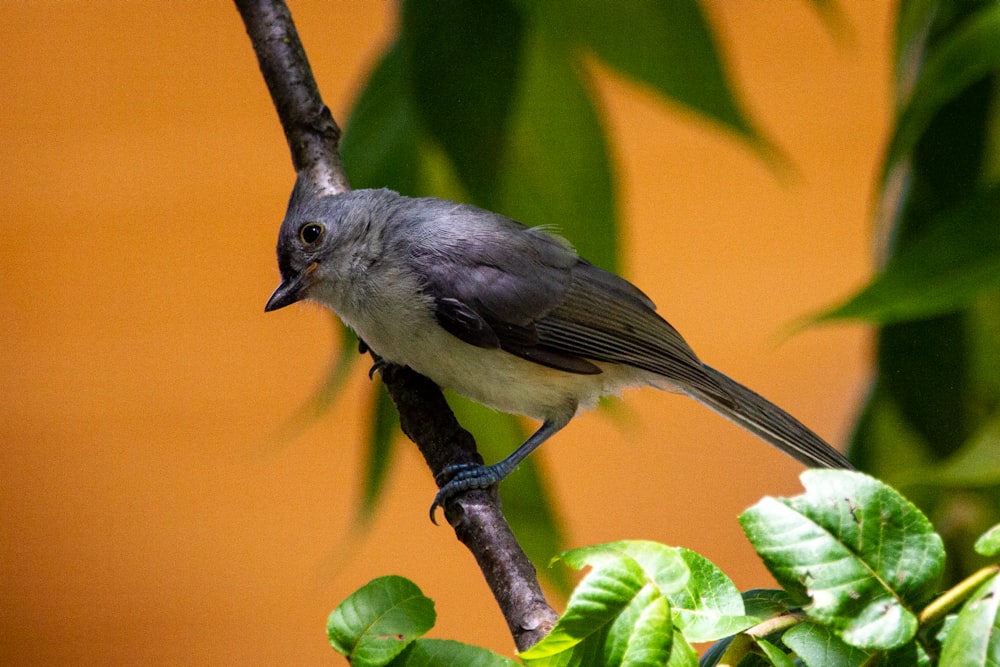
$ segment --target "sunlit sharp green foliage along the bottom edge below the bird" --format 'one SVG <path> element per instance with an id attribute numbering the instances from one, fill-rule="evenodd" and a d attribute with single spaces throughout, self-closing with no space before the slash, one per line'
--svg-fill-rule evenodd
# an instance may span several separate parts
<path id="1" fill-rule="evenodd" d="M 741 596 L 703 556 L 654 542 L 573 549 L 558 560 L 588 570 L 551 633 L 519 657 L 533 667 L 998 664 L 1000 565 L 939 593 L 942 540 L 912 503 L 861 473 L 802 480 L 801 495 L 764 498 L 740 517 L 783 590 Z M 980 539 L 985 553 L 998 533 Z M 345 600 L 329 632 L 352 665 L 396 665 L 433 620 L 416 586 L 384 577 Z M 714 640 L 699 663 L 691 643 Z M 449 647 L 448 659 L 421 664 L 511 664 Z"/>

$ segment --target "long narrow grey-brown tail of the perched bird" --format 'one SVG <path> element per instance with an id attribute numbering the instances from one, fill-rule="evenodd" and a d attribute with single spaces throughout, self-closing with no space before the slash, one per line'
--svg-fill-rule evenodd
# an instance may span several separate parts
<path id="1" fill-rule="evenodd" d="M 723 392 L 689 388 L 693 398 L 810 468 L 854 470 L 843 454 L 795 417 L 714 368 L 703 368 Z"/>

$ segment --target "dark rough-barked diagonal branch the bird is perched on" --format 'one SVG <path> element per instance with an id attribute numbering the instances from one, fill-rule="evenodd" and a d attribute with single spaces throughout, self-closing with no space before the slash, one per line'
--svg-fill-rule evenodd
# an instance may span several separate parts
<path id="1" fill-rule="evenodd" d="M 340 159 L 340 128 L 323 103 L 288 7 L 281 0 L 235 0 L 281 121 L 292 165 L 331 194 L 350 189 Z M 377 361 L 375 354 L 372 357 Z M 450 465 L 481 462 L 476 443 L 433 382 L 398 366 L 382 379 L 399 411 L 403 432 L 416 443 L 434 478 Z M 495 489 L 457 497 L 445 516 L 472 552 L 519 651 L 534 645 L 557 615 L 538 584 L 500 509 Z"/>

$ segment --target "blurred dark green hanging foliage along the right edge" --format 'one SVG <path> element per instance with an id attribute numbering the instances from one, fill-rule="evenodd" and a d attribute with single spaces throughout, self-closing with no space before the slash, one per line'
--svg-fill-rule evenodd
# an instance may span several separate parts
<path id="1" fill-rule="evenodd" d="M 883 261 L 821 319 L 877 327 L 852 442 L 948 545 L 948 579 L 982 564 L 1000 521 L 1000 5 L 900 4 L 896 122 L 878 203 Z"/>

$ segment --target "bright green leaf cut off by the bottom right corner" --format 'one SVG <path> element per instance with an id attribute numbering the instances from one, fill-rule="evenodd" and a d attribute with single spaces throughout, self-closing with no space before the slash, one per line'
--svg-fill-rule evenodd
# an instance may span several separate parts
<path id="1" fill-rule="evenodd" d="M 942 665 L 1000 665 L 1000 577 L 984 583 L 958 613 L 941 649 Z"/>

